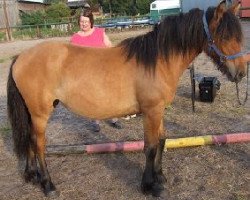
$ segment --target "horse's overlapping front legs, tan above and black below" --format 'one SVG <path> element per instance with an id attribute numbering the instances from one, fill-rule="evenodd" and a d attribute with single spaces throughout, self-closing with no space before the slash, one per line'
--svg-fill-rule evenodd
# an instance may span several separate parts
<path id="1" fill-rule="evenodd" d="M 142 191 L 160 196 L 164 190 L 165 177 L 162 173 L 162 152 L 165 144 L 163 128 L 164 108 L 157 107 L 145 113 L 144 151 L 146 166 L 142 177 Z"/>

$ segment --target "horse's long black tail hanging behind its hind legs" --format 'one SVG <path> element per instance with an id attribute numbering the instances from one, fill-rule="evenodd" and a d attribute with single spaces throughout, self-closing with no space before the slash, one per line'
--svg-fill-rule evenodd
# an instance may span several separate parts
<path id="1" fill-rule="evenodd" d="M 9 120 L 12 126 L 14 151 L 18 158 L 27 157 L 31 138 L 31 117 L 25 101 L 20 94 L 12 75 L 12 61 L 7 83 L 7 106 Z"/>

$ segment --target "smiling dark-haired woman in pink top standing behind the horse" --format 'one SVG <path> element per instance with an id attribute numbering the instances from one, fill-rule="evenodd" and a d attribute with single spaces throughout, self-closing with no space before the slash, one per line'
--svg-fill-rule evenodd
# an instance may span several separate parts
<path id="1" fill-rule="evenodd" d="M 112 43 L 110 42 L 108 36 L 106 35 L 103 28 L 94 27 L 94 17 L 90 9 L 85 9 L 81 13 L 78 24 L 80 30 L 73 34 L 70 39 L 71 44 L 86 46 L 86 47 L 111 47 Z M 111 120 L 112 127 L 121 129 L 122 126 L 117 118 Z M 99 132 L 100 121 L 93 121 L 93 131 Z"/>

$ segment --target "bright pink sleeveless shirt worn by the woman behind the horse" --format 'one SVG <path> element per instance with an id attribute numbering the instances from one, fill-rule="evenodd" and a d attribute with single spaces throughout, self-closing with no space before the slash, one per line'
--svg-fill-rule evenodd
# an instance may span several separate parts
<path id="1" fill-rule="evenodd" d="M 93 33 L 88 36 L 81 36 L 78 33 L 75 33 L 71 37 L 70 43 L 87 47 L 105 47 L 104 29 L 94 27 Z"/>

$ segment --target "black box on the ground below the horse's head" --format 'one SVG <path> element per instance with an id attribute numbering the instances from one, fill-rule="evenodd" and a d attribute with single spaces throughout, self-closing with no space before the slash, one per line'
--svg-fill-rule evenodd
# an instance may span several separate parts
<path id="1" fill-rule="evenodd" d="M 199 83 L 200 100 L 213 102 L 217 90 L 220 89 L 220 82 L 216 77 L 203 77 Z"/>

